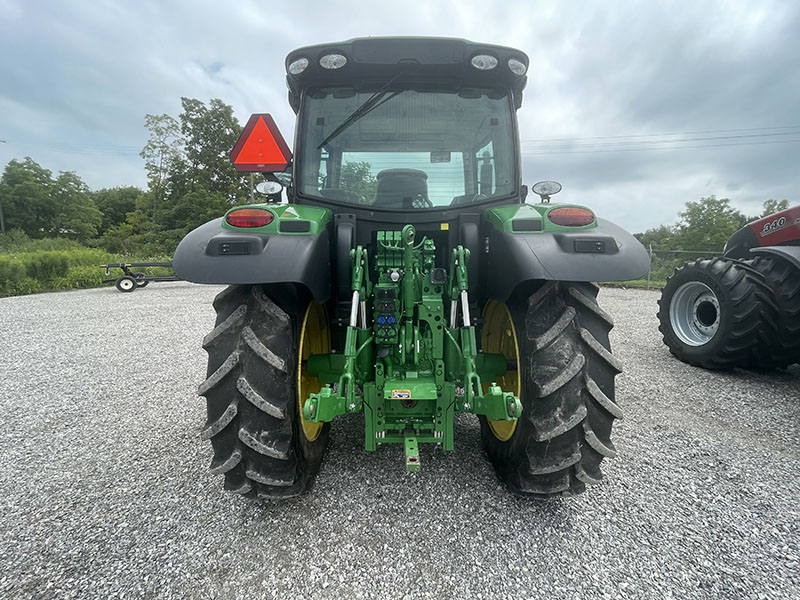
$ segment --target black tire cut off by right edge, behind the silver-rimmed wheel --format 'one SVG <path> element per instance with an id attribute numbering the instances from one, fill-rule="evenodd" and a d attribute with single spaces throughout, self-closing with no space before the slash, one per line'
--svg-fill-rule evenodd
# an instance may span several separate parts
<path id="1" fill-rule="evenodd" d="M 773 366 L 800 363 L 800 269 L 788 260 L 759 256 L 753 268 L 764 276 L 778 308 L 776 332 L 769 346 Z"/>

